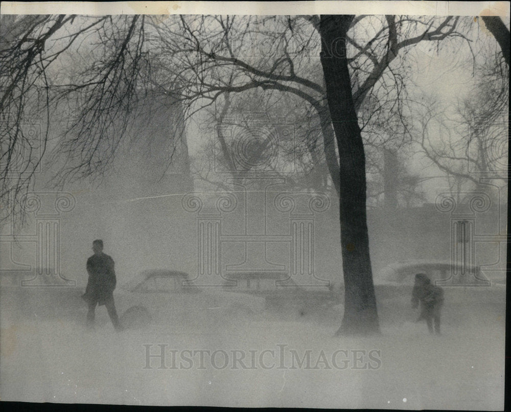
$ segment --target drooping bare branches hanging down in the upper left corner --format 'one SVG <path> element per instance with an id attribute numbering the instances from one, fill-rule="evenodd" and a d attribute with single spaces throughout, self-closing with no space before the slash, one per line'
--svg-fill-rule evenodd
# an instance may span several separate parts
<path id="1" fill-rule="evenodd" d="M 61 179 L 101 173 L 111 162 L 147 74 L 144 19 L 2 16 L 2 31 L 9 33 L 0 50 L 3 219 L 22 216 L 20 195 L 28 190 L 43 161 L 53 111 L 67 115 L 68 120 L 67 140 L 59 146 L 59 154 L 67 156 Z M 59 71 L 65 72 L 65 58 L 76 48 L 83 54 L 85 68 L 79 74 L 62 76 Z M 34 113 L 44 114 L 42 136 L 36 142 L 22 128 Z"/>

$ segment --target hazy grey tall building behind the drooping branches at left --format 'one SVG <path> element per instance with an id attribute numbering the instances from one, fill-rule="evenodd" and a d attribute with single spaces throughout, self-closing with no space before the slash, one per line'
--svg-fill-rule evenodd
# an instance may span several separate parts
<path id="1" fill-rule="evenodd" d="M 182 106 L 149 92 L 138 102 L 132 124 L 105 179 L 120 196 L 158 196 L 193 191 Z"/>

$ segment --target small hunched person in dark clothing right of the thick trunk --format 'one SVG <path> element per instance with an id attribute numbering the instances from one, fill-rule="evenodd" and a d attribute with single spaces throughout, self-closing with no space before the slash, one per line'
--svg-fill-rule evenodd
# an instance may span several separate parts
<path id="1" fill-rule="evenodd" d="M 424 273 L 415 275 L 415 285 L 412 290 L 412 307 L 416 308 L 421 302 L 421 314 L 417 322 L 426 319 L 428 330 L 440 334 L 440 309 L 444 304 L 444 291 L 431 284 L 430 279 Z"/>

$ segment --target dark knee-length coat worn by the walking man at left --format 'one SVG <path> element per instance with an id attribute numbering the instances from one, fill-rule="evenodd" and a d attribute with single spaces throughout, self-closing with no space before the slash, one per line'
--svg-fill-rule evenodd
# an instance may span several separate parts
<path id="1" fill-rule="evenodd" d="M 113 297 L 117 279 L 113 259 L 104 253 L 94 254 L 87 259 L 89 279 L 82 298 L 87 303 L 104 305 Z"/>

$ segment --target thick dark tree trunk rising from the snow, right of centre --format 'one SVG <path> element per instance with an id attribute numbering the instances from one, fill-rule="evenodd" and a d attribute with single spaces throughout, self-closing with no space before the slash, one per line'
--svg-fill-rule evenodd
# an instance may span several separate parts
<path id="1" fill-rule="evenodd" d="M 339 149 L 344 317 L 337 334 L 379 333 L 366 219 L 365 154 L 346 59 L 353 16 L 322 15 L 321 65 Z"/>

